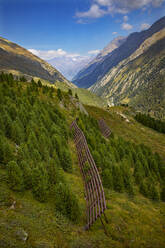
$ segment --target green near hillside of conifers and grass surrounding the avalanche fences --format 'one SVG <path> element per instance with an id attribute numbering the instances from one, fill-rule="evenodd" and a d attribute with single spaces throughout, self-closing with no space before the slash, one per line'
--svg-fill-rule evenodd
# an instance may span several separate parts
<path id="1" fill-rule="evenodd" d="M 162 154 L 121 137 L 116 109 L 86 106 L 87 116 L 72 95 L 40 81 L 0 77 L 0 247 L 163 248 Z M 103 116 L 110 128 L 116 123 L 107 140 L 97 123 Z M 83 229 L 84 188 L 69 128 L 75 118 L 103 181 L 108 236 L 99 220 Z"/>

